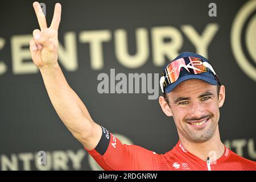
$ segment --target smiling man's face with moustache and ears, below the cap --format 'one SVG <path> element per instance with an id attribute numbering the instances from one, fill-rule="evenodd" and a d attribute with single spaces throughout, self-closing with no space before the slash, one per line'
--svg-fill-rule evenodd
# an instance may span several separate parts
<path id="1" fill-rule="evenodd" d="M 179 135 L 197 143 L 212 138 L 220 118 L 219 107 L 225 98 L 224 86 L 218 98 L 217 86 L 192 79 L 181 82 L 167 97 L 169 104 L 164 105 L 162 100 L 160 105 L 164 113 L 174 117 Z"/>

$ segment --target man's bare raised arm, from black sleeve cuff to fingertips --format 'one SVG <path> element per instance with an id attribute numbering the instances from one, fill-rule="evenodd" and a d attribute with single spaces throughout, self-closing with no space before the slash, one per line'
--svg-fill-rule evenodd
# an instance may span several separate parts
<path id="1" fill-rule="evenodd" d="M 47 93 L 61 121 L 86 148 L 93 149 L 101 138 L 102 129 L 95 123 L 79 96 L 65 80 L 57 62 L 58 28 L 61 5 L 56 3 L 50 27 L 38 2 L 33 3 L 40 30 L 33 31 L 30 52 L 34 64 L 42 74 Z"/>

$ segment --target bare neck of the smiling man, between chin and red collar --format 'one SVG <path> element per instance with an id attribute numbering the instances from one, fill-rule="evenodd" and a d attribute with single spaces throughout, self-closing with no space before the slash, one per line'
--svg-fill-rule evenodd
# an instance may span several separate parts
<path id="1" fill-rule="evenodd" d="M 221 142 L 220 132 L 218 126 L 216 130 L 208 141 L 203 143 L 196 143 L 191 140 L 186 139 L 185 137 L 179 135 L 180 142 L 183 147 L 190 152 L 191 154 L 197 156 L 197 158 L 206 161 L 207 158 L 210 158 L 210 161 L 219 159 L 225 152 L 225 146 Z"/>

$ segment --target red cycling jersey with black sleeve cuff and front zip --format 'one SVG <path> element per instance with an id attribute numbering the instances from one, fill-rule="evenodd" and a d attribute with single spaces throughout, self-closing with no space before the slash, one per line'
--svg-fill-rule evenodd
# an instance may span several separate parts
<path id="1" fill-rule="evenodd" d="M 123 144 L 104 127 L 102 130 L 100 142 L 88 152 L 104 170 L 256 170 L 256 162 L 242 158 L 227 147 L 221 158 L 208 163 L 185 150 L 180 141 L 171 151 L 156 154 L 140 146 Z"/>

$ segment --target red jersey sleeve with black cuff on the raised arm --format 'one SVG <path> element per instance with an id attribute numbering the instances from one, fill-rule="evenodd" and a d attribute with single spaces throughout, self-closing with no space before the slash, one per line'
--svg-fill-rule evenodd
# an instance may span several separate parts
<path id="1" fill-rule="evenodd" d="M 104 127 L 100 142 L 93 150 L 87 151 L 104 170 L 151 171 L 158 163 L 158 154 L 140 146 L 124 144 Z"/>

